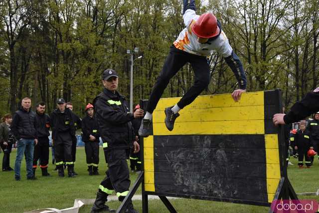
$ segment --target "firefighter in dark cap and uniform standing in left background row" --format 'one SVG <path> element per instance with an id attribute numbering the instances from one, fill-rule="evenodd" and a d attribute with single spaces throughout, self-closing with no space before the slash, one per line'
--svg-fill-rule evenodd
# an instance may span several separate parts
<path id="1" fill-rule="evenodd" d="M 74 125 L 73 113 L 65 108 L 64 99 L 57 100 L 58 108 L 51 113 L 52 141 L 55 148 L 55 165 L 58 168 L 59 176 L 64 177 L 63 164 L 68 167 L 68 176 L 73 174 L 72 161 L 72 126 Z"/>

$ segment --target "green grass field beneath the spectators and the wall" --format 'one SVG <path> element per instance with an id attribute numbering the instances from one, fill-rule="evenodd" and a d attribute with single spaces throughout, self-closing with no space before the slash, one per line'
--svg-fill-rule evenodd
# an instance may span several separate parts
<path id="1" fill-rule="evenodd" d="M 11 153 L 10 166 L 14 167 L 15 150 Z M 0 153 L 0 165 L 2 165 L 3 153 Z M 317 157 L 317 156 L 316 156 Z M 51 151 L 50 160 L 51 162 Z M 296 191 L 316 192 L 319 189 L 319 161 L 316 158 L 311 169 L 299 169 L 297 159 L 291 158 L 294 166 L 289 166 L 289 179 Z M 89 176 L 86 171 L 84 147 L 78 147 L 76 155 L 75 171 L 79 174 L 76 178 L 59 178 L 54 166 L 49 164 L 51 177 L 42 177 L 41 170 L 36 170 L 38 180 L 26 180 L 25 161 L 21 164 L 21 181 L 14 180 L 14 172 L 0 172 L 0 212 L 1 213 L 22 213 L 41 208 L 65 209 L 73 206 L 74 199 L 95 198 L 97 188 L 105 176 L 107 165 L 104 160 L 102 148 L 100 149 L 99 176 Z M 131 181 L 135 181 L 137 175 L 131 173 Z M 141 194 L 141 187 L 137 191 Z M 316 199 L 318 196 L 299 196 L 299 199 Z M 133 202 L 136 209 L 142 212 L 142 201 Z M 200 201 L 191 199 L 172 200 L 172 205 L 179 213 L 266 213 L 268 207 L 257 207 L 231 203 Z M 112 208 L 119 207 L 119 202 L 108 202 Z M 84 206 L 80 213 L 90 212 L 91 206 Z M 149 202 L 150 213 L 168 213 L 160 200 Z"/>

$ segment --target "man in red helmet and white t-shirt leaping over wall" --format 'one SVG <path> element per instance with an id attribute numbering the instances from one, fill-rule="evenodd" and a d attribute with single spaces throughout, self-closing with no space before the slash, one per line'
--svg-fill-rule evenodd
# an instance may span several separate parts
<path id="1" fill-rule="evenodd" d="M 151 93 L 147 112 L 139 129 L 140 136 L 151 134 L 152 113 L 156 108 L 169 80 L 186 63 L 190 63 L 195 74 L 194 85 L 185 93 L 175 105 L 165 108 L 165 125 L 169 131 L 174 127 L 178 111 L 192 103 L 195 98 L 208 86 L 210 81 L 207 58 L 213 51 L 224 57 L 226 63 L 234 72 L 239 88 L 232 93 L 237 102 L 242 93 L 246 92 L 246 75 L 243 65 L 228 43 L 228 39 L 221 28 L 220 22 L 211 13 L 196 15 L 195 0 L 184 0 L 183 19 L 186 27 L 179 33 L 178 38 L 170 47 L 160 76 Z"/>

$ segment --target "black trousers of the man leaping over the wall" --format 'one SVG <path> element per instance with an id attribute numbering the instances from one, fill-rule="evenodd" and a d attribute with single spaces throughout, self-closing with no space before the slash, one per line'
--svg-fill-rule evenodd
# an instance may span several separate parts
<path id="1" fill-rule="evenodd" d="M 162 96 L 169 80 L 181 69 L 186 63 L 190 63 L 194 70 L 195 82 L 194 85 L 189 88 L 181 100 L 177 103 L 179 108 L 192 103 L 195 98 L 207 88 L 210 81 L 209 66 L 207 59 L 204 56 L 198 56 L 187 53 L 185 51 L 170 47 L 168 56 L 166 57 L 163 69 L 160 72 L 153 91 L 151 93 L 147 111 L 153 113 L 156 108 L 160 97 Z"/>

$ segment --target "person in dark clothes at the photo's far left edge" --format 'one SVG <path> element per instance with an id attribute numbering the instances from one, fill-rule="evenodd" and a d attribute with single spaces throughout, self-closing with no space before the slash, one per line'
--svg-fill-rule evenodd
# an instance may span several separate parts
<path id="1" fill-rule="evenodd" d="M 12 171 L 10 167 L 10 153 L 12 145 L 16 142 L 14 135 L 11 132 L 12 115 L 5 114 L 0 124 L 0 146 L 3 150 L 2 171 Z"/>

